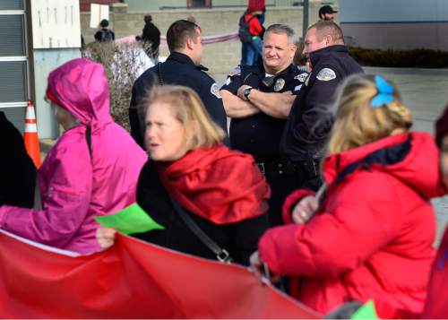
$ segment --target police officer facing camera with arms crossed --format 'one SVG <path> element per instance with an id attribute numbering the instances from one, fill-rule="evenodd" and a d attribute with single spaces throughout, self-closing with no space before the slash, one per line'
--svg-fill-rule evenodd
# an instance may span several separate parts
<path id="1" fill-rule="evenodd" d="M 307 76 L 292 64 L 293 41 L 294 31 L 289 26 L 271 25 L 263 39 L 263 62 L 237 68 L 220 91 L 231 117 L 232 148 L 252 154 L 271 185 L 271 226 L 281 223 L 281 204 L 293 178 L 286 162 L 280 160 L 280 137 Z"/>

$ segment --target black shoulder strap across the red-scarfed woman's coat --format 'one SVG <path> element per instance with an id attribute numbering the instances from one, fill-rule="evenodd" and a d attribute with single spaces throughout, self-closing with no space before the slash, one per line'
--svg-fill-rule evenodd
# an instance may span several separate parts
<path id="1" fill-rule="evenodd" d="M 180 216 L 180 218 L 182 218 L 187 227 L 193 231 L 196 237 L 199 238 L 205 246 L 211 249 L 211 251 L 216 255 L 218 261 L 220 261 L 221 263 L 230 264 L 232 262 L 232 258 L 228 254 L 228 251 L 218 246 L 216 242 L 214 242 L 209 236 L 207 236 L 205 232 L 203 232 L 202 229 L 199 228 L 196 222 L 194 222 L 194 220 L 188 215 L 188 213 L 185 212 L 184 208 L 182 208 L 172 196 L 169 196 L 169 199 L 171 200 L 171 203 L 173 204 L 177 214 Z"/>

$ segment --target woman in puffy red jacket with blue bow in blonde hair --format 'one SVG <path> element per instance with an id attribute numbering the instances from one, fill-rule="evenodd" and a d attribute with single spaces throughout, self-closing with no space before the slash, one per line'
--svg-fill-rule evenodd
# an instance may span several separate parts
<path id="1" fill-rule="evenodd" d="M 289 224 L 260 239 L 255 274 L 264 263 L 291 275 L 291 294 L 322 314 L 373 299 L 381 318 L 417 316 L 435 253 L 429 199 L 444 194 L 434 140 L 409 132 L 409 109 L 380 75 L 350 75 L 332 109 L 326 192 L 289 195 Z"/>

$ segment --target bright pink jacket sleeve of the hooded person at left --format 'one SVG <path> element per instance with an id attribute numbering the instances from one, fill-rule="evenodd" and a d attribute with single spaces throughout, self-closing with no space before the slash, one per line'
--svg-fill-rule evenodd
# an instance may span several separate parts
<path id="1" fill-rule="evenodd" d="M 43 210 L 4 205 L 0 229 L 46 244 L 64 247 L 84 221 L 90 205 L 92 172 L 78 155 L 60 152 L 52 160 Z"/>

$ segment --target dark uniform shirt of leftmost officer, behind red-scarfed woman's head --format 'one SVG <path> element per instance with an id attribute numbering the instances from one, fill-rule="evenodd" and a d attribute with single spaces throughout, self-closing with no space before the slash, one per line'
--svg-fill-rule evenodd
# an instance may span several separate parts
<path id="1" fill-rule="evenodd" d="M 135 82 L 133 95 L 129 108 L 129 121 L 131 124 L 131 134 L 134 140 L 143 148 L 144 136 L 144 115 L 140 114 L 138 107 L 141 107 L 141 99 L 146 96 L 151 88 L 154 79 L 158 79 L 159 65 L 154 65 L 146 70 Z M 227 116 L 219 87 L 210 75 L 205 74 L 203 66 L 194 65 L 190 57 L 179 52 L 171 53 L 167 61 L 160 64 L 161 84 L 184 85 L 196 91 L 209 112 L 211 118 L 227 133 Z"/>

